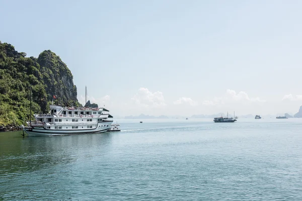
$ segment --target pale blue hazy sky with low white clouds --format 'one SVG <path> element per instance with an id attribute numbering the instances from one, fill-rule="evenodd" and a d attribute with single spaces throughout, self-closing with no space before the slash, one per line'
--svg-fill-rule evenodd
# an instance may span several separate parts
<path id="1" fill-rule="evenodd" d="M 294 114 L 302 1 L 7 1 L 0 41 L 55 52 L 111 114 Z"/>

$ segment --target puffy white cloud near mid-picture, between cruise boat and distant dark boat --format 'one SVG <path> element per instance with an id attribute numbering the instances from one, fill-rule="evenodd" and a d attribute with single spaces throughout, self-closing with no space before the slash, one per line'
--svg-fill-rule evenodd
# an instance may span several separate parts
<path id="1" fill-rule="evenodd" d="M 166 106 L 165 98 L 162 92 L 151 92 L 149 89 L 140 87 L 138 92 L 131 98 L 135 104 L 141 107 L 164 107 Z"/>

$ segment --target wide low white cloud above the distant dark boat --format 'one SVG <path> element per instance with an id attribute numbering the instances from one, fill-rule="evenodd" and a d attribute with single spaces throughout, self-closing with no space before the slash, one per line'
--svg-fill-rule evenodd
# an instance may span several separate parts
<path id="1" fill-rule="evenodd" d="M 205 106 L 225 105 L 226 103 L 264 103 L 266 100 L 259 97 L 250 98 L 248 93 L 227 89 L 224 96 L 214 97 L 213 100 L 204 100 L 202 103 Z"/>

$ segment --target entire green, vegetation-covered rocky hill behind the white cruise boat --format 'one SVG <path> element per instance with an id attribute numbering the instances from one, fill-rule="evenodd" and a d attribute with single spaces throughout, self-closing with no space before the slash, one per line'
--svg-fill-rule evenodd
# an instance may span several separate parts
<path id="1" fill-rule="evenodd" d="M 53 95 L 59 96 L 60 105 L 80 106 L 72 78 L 66 64 L 50 50 L 38 58 L 26 57 L 0 41 L 0 125 L 18 126 L 29 120 L 30 88 L 33 113 L 47 113 Z"/>

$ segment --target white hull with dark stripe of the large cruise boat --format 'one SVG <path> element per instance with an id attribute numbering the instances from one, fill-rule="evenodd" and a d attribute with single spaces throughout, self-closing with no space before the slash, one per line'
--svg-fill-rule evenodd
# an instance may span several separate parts
<path id="1" fill-rule="evenodd" d="M 81 135 L 81 134 L 93 134 L 104 133 L 109 130 L 112 122 L 107 123 L 107 127 L 101 127 L 99 124 L 92 129 L 73 129 L 73 130 L 53 130 L 45 129 L 44 127 L 23 127 L 23 130 L 28 136 L 62 136 L 62 135 Z"/>

